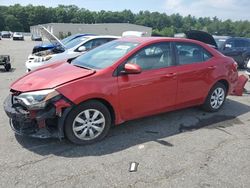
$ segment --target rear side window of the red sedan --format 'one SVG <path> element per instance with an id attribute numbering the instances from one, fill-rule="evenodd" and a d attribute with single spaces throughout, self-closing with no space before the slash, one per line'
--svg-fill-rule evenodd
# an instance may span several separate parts
<path id="1" fill-rule="evenodd" d="M 180 65 L 204 62 L 212 57 L 204 48 L 192 43 L 176 43 L 176 49 Z"/>

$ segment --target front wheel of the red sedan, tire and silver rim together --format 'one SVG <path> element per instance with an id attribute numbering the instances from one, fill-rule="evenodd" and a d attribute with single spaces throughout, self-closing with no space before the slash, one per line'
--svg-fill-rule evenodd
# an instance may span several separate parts
<path id="1" fill-rule="evenodd" d="M 103 139 L 111 126 L 111 115 L 99 101 L 88 101 L 74 108 L 65 121 L 65 134 L 75 144 Z"/>

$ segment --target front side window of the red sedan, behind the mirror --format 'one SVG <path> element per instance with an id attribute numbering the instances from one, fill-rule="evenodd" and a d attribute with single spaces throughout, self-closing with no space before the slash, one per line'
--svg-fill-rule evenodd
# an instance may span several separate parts
<path id="1" fill-rule="evenodd" d="M 142 70 L 151 70 L 174 65 L 172 59 L 170 43 L 158 43 L 143 48 L 128 62 L 139 65 Z"/>

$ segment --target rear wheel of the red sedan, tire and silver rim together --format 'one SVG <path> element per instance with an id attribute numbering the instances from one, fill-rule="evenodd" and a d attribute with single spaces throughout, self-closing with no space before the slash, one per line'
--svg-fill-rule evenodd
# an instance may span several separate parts
<path id="1" fill-rule="evenodd" d="M 226 99 L 226 87 L 222 83 L 216 83 L 209 91 L 202 108 L 208 112 L 218 111 Z"/>

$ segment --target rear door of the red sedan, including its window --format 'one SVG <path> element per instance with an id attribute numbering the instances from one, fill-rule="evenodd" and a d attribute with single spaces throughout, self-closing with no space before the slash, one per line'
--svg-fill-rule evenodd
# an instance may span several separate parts
<path id="1" fill-rule="evenodd" d="M 178 61 L 178 91 L 176 103 L 180 106 L 199 104 L 206 97 L 216 68 L 212 55 L 202 46 L 176 42 Z"/>

